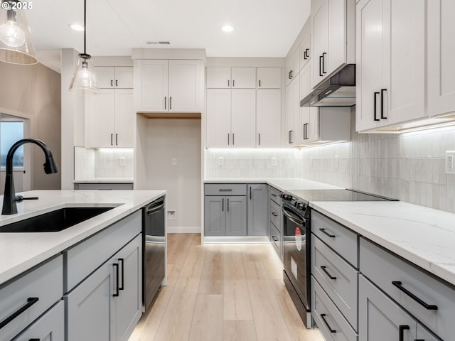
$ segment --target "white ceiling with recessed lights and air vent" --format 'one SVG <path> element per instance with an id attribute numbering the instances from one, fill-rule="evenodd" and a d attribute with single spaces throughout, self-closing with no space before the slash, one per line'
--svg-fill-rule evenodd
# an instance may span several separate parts
<path id="1" fill-rule="evenodd" d="M 205 48 L 208 57 L 285 57 L 309 11 L 310 0 L 87 0 L 87 53 Z M 69 27 L 83 24 L 83 0 L 34 1 L 26 15 L 40 63 L 60 69 L 60 48 L 83 51 L 83 32 Z M 220 30 L 225 23 L 232 33 Z"/>

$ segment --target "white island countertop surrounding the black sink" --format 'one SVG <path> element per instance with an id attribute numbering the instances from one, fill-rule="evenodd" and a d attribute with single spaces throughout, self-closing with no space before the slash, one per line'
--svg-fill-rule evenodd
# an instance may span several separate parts
<path id="1" fill-rule="evenodd" d="M 0 284 L 77 242 L 140 210 L 166 190 L 32 190 L 21 193 L 38 200 L 18 202 L 18 214 L 0 215 L 1 226 L 63 207 L 114 207 L 60 232 L 0 233 Z M 3 196 L 0 197 L 3 205 Z"/>

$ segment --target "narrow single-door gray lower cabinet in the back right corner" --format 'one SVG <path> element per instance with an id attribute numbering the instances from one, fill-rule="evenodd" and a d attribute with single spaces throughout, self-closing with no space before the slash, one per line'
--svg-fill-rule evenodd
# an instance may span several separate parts
<path id="1" fill-rule="evenodd" d="M 248 185 L 249 236 L 267 236 L 267 185 Z"/>

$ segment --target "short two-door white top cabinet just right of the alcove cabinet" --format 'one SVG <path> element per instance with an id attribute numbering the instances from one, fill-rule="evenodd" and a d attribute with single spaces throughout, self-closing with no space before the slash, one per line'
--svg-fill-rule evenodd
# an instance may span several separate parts
<path id="1" fill-rule="evenodd" d="M 208 89 L 255 89 L 256 67 L 207 67 Z"/>

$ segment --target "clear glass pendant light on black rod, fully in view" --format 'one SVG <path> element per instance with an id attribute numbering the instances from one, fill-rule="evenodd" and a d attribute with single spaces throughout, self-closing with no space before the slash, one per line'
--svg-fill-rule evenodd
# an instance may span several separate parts
<path id="1" fill-rule="evenodd" d="M 91 55 L 85 53 L 85 36 L 87 33 L 86 25 L 86 6 L 87 0 L 84 0 L 84 53 L 79 54 L 73 79 L 70 83 L 70 90 L 77 94 L 98 94 L 100 89 L 97 85 L 97 77 L 92 67 Z"/>

